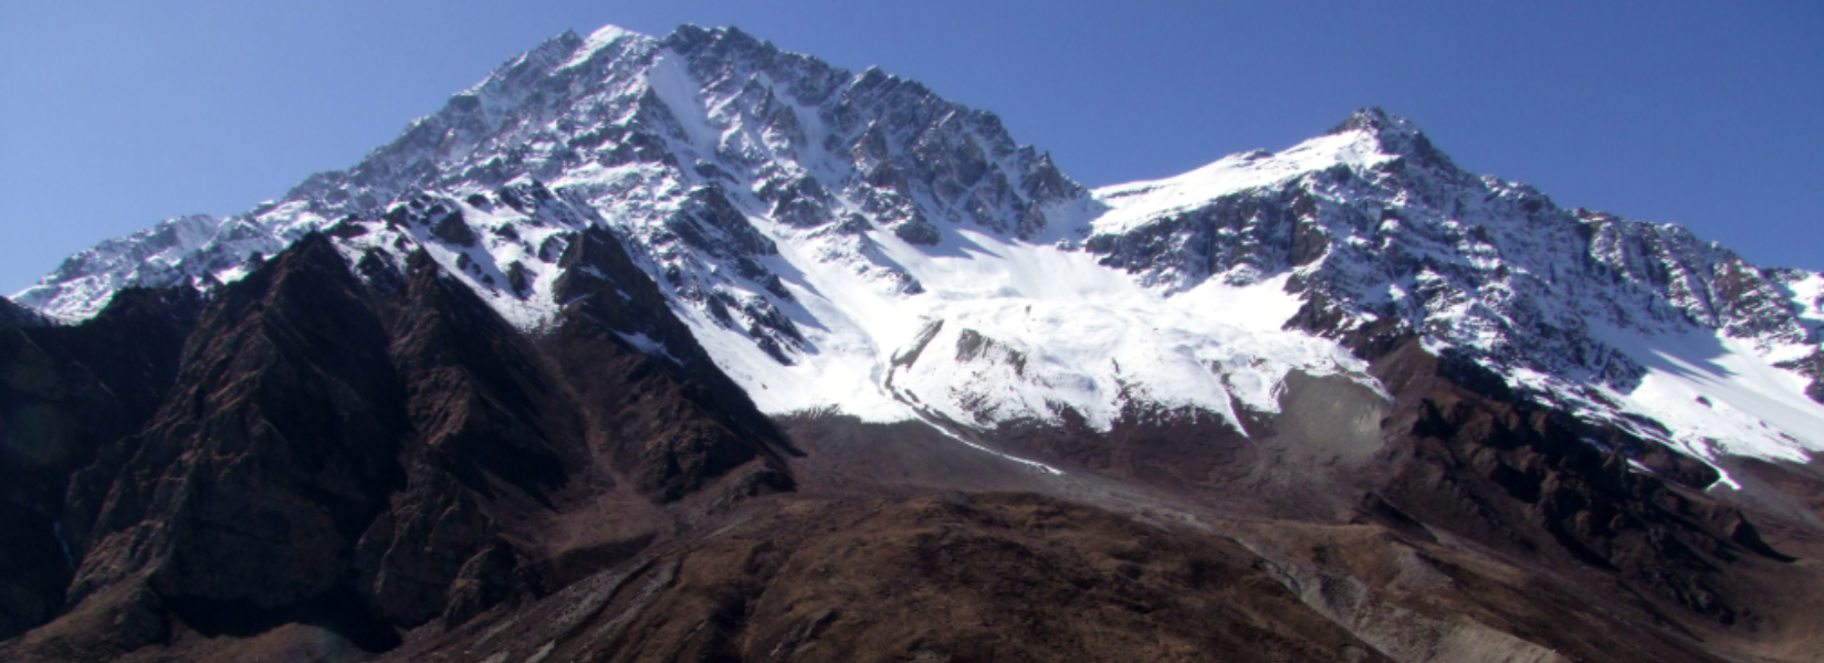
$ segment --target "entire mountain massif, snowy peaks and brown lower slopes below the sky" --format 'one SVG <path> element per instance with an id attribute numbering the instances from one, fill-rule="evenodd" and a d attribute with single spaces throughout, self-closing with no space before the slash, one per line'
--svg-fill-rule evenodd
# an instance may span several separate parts
<path id="1" fill-rule="evenodd" d="M 1087 189 L 879 69 L 565 33 L 13 299 L 9 658 L 1820 645 L 1824 275 L 1381 109 Z"/>

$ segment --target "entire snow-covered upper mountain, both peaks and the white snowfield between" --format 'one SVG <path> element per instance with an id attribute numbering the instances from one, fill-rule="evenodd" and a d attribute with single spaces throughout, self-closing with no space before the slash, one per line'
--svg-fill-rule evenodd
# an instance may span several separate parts
<path id="1" fill-rule="evenodd" d="M 1824 448 L 1804 395 L 1824 277 L 1560 209 L 1403 118 L 1085 191 L 992 113 L 693 26 L 560 35 L 347 171 L 104 242 L 15 299 L 78 321 L 321 230 L 367 279 L 423 250 L 536 330 L 586 228 L 620 237 L 775 413 L 1109 426 L 1155 408 L 1238 428 L 1293 370 L 1372 382 L 1333 339 L 1392 321 L 1700 457 Z"/>

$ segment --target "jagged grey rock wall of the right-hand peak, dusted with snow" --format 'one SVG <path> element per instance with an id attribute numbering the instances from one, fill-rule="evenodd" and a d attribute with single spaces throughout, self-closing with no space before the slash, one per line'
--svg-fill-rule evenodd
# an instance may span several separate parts
<path id="1" fill-rule="evenodd" d="M 1304 173 L 1124 219 L 1085 246 L 1166 288 L 1293 271 L 1288 288 L 1313 313 L 1344 313 L 1326 328 L 1306 324 L 1310 332 L 1342 335 L 1392 317 L 1435 342 L 1474 348 L 1503 373 L 1536 370 L 1620 390 L 1645 368 L 1596 326 L 1808 339 L 1777 282 L 1684 228 L 1560 209 L 1525 184 L 1470 175 L 1408 120 L 1379 109 L 1355 113 L 1330 138 L 1348 140 L 1326 148 L 1353 149 L 1355 160 L 1313 158 Z M 1248 158 L 1233 168 L 1266 169 Z"/>

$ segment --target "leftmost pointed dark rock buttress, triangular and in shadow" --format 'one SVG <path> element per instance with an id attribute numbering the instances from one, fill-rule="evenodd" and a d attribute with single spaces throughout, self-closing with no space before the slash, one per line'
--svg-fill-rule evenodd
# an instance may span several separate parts
<path id="1" fill-rule="evenodd" d="M 387 332 L 314 240 L 223 293 L 159 417 L 124 441 L 69 597 L 144 574 L 168 601 L 277 610 L 332 592 L 405 483 Z M 86 514 L 77 514 L 80 519 Z"/>

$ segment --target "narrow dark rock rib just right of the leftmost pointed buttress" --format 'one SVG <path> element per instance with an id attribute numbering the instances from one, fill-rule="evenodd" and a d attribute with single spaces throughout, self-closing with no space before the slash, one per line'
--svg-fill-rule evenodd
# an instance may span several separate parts
<path id="1" fill-rule="evenodd" d="M 503 599 L 516 550 L 589 457 L 531 344 L 427 255 L 407 270 L 405 293 L 383 306 L 410 423 L 398 454 L 407 481 L 361 532 L 352 566 L 379 619 L 418 627 Z"/>

